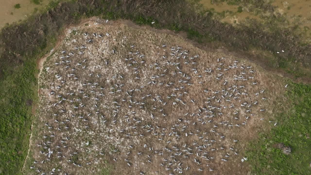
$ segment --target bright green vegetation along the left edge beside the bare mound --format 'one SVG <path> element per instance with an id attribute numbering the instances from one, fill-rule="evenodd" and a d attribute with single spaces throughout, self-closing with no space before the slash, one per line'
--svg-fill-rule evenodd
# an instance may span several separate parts
<path id="1" fill-rule="evenodd" d="M 14 68 L 9 68 L 14 69 Z M 0 83 L 0 174 L 15 174 L 27 155 L 31 103 L 36 99 L 35 62 L 25 62 L 14 73 L 4 72 Z M 1 173 L 2 172 L 2 173 Z"/>

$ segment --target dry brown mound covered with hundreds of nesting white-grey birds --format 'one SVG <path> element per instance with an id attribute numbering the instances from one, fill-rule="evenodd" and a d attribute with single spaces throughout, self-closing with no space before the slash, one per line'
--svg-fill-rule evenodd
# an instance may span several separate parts
<path id="1" fill-rule="evenodd" d="M 264 73 L 182 38 L 68 29 L 39 77 L 32 174 L 234 174 L 267 121 Z M 273 123 L 274 124 L 274 123 Z"/>

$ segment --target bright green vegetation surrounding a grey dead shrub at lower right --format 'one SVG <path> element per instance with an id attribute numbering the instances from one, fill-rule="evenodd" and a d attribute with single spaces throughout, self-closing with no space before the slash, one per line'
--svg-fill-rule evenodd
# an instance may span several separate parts
<path id="1" fill-rule="evenodd" d="M 247 157 L 253 173 L 311 174 L 311 85 L 290 83 L 286 94 L 292 108 L 277 117 L 270 133 L 261 133 L 250 144 Z M 284 154 L 276 147 L 279 143 L 290 146 L 291 153 Z"/>

